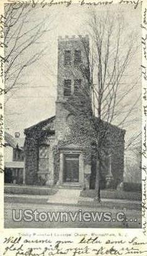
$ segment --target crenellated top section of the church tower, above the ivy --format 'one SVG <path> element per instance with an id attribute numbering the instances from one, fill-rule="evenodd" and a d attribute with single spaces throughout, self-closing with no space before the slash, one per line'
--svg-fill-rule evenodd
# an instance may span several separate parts
<path id="1" fill-rule="evenodd" d="M 79 93 L 89 80 L 88 69 L 89 36 L 58 37 L 57 101 Z"/>

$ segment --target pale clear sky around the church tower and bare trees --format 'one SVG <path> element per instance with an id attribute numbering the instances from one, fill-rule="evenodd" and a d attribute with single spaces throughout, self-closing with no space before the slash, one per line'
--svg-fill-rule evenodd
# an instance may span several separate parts
<path id="1" fill-rule="evenodd" d="M 140 42 L 140 9 L 133 9 L 132 6 L 118 6 L 118 4 L 108 7 L 108 9 L 123 14 L 126 34 L 135 31 L 138 34 L 136 40 Z M 96 11 L 99 13 L 105 11 L 105 9 L 104 7 L 96 7 Z M 33 15 L 31 14 L 30 22 L 33 21 L 37 24 L 38 19 L 46 19 L 45 26 L 50 31 L 43 36 L 40 44 L 34 45 L 27 54 L 32 54 L 32 50 L 35 52 L 37 47 L 42 47 L 42 45 L 46 45 L 47 50 L 45 56 L 25 70 L 21 77 L 21 82 L 24 82 L 25 85 L 17 88 L 14 95 L 7 102 L 6 113 L 9 113 L 9 115 L 6 115 L 5 125 L 6 131 L 11 135 L 19 131 L 22 137 L 25 128 L 55 115 L 58 36 L 86 35 L 88 17 L 89 9 L 77 5 L 46 7 L 37 9 L 33 12 Z M 27 26 L 29 26 L 29 22 Z M 27 55 L 22 55 L 20 58 L 27 58 Z M 128 67 L 128 76 L 125 78 L 127 82 L 131 83 L 132 78 L 135 78 L 140 69 L 140 64 L 141 54 L 135 52 L 131 65 Z M 128 98 L 128 102 L 134 100 L 140 92 L 141 84 L 138 83 L 138 86 Z M 133 133 L 141 129 L 141 105 L 140 108 L 136 109 L 135 115 L 140 116 L 140 121 L 125 127 L 127 130 L 126 141 Z"/>

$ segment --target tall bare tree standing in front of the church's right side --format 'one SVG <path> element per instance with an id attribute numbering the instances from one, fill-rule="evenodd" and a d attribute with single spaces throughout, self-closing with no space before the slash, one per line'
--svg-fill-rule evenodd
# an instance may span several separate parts
<path id="1" fill-rule="evenodd" d="M 109 145 L 106 145 L 110 124 L 124 128 L 128 120 L 135 121 L 132 119 L 133 113 L 138 107 L 141 94 L 131 103 L 128 95 L 131 95 L 138 85 L 140 77 L 135 77 L 134 81 L 128 84 L 125 76 L 138 45 L 132 45 L 132 38 L 135 40 L 135 35 L 127 34 L 122 17 L 109 15 L 108 12 L 104 16 L 91 12 L 87 25 L 91 39 L 90 51 L 82 37 L 81 41 L 87 54 L 89 67 L 79 65 L 85 84 L 84 88 L 79 89 L 80 100 L 78 97 L 73 97 L 72 100 L 71 97 L 67 106 L 74 115 L 73 126 L 76 131 L 74 136 L 78 134 L 79 137 L 84 134 L 91 137 L 91 146 L 97 159 L 95 189 L 96 199 L 99 200 L 102 151 L 105 148 L 105 153 L 107 152 L 110 156 L 119 140 L 118 136 L 113 145 L 112 138 Z M 75 77 L 76 74 L 73 75 Z M 92 93 L 89 93 L 89 88 L 85 87 L 86 84 L 90 86 Z M 131 143 L 132 141 L 130 145 Z"/>

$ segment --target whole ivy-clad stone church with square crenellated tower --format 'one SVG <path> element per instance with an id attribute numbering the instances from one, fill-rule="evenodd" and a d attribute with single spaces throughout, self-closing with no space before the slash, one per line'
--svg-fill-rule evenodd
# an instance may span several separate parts
<path id="1" fill-rule="evenodd" d="M 68 137 L 72 127 L 72 115 L 68 107 L 65 107 L 71 96 L 80 97 L 80 88 L 87 88 L 87 92 L 91 93 L 87 56 L 87 36 L 59 37 L 56 115 L 24 130 L 26 184 L 94 189 L 96 159 L 92 157 L 91 141 L 86 145 L 84 140 L 79 143 L 74 140 L 74 136 Z M 81 67 L 86 70 L 86 77 Z M 109 154 L 102 157 L 105 164 L 100 174 L 100 186 L 115 189 L 123 181 L 125 131 L 106 122 L 105 126 L 109 128 L 107 137 L 111 139 L 111 143 Z M 99 128 L 98 118 L 97 127 Z M 81 136 L 81 133 L 76 135 L 77 138 L 78 136 Z M 112 147 L 111 144 L 115 146 Z"/>

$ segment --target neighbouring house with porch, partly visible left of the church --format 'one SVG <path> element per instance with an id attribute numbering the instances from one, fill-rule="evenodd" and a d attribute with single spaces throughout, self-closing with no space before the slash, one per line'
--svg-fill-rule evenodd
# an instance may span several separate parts
<path id="1" fill-rule="evenodd" d="M 4 183 L 23 183 L 24 138 L 4 133 Z"/>

